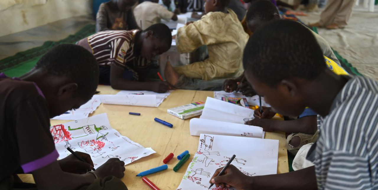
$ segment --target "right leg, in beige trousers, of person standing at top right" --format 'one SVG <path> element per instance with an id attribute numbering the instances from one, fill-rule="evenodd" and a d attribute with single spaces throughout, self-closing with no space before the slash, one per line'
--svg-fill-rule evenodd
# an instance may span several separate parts
<path id="1" fill-rule="evenodd" d="M 352 15 L 353 5 L 355 4 L 355 0 L 341 0 L 342 4 L 340 9 L 335 17 L 335 23 L 339 26 L 339 28 L 345 28 L 348 25 L 348 21 L 350 16 Z"/>

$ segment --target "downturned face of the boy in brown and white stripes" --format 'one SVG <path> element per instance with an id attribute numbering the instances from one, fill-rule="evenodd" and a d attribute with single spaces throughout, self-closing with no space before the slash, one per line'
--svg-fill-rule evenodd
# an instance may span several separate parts
<path id="1" fill-rule="evenodd" d="M 156 39 L 154 36 L 149 36 L 143 40 L 140 55 L 146 59 L 151 59 L 166 51 L 168 51 L 167 44 L 162 42 L 162 40 Z"/>

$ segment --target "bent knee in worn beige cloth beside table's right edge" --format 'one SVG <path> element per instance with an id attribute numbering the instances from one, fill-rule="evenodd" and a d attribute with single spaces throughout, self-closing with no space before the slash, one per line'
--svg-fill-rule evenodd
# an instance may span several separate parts
<path id="1" fill-rule="evenodd" d="M 315 134 L 291 133 L 286 139 L 285 146 L 291 154 L 296 155 L 299 148 L 305 144 L 315 142 L 318 136 L 318 131 Z"/>

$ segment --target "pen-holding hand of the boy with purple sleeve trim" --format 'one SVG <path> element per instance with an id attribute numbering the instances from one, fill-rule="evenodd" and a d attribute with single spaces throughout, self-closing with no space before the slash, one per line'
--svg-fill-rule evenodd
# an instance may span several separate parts
<path id="1" fill-rule="evenodd" d="M 84 174 L 93 168 L 93 162 L 91 156 L 86 153 L 75 151 L 85 162 L 80 161 L 73 154 L 68 155 L 66 158 L 58 161 L 60 168 L 68 173 Z"/>

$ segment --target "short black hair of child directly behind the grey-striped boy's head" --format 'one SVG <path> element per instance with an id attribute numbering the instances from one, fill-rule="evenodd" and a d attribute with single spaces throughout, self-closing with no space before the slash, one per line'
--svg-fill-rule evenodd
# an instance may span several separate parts
<path id="1" fill-rule="evenodd" d="M 251 3 L 246 14 L 246 21 L 249 22 L 253 19 L 260 19 L 263 21 L 270 21 L 274 15 L 279 15 L 277 7 L 267 0 L 257 0 Z"/>

